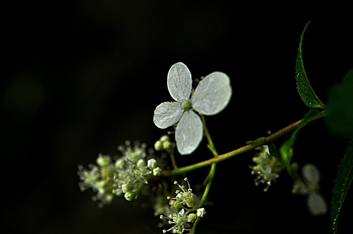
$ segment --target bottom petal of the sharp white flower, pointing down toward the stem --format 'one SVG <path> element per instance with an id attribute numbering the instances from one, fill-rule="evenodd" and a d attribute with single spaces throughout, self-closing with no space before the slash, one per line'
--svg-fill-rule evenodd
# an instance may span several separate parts
<path id="1" fill-rule="evenodd" d="M 191 154 L 202 140 L 201 118 L 193 111 L 185 111 L 175 129 L 175 142 L 181 155 Z"/>

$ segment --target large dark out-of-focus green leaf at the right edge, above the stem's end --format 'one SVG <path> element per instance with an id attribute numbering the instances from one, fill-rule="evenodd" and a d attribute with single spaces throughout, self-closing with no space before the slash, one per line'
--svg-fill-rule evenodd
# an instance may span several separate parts
<path id="1" fill-rule="evenodd" d="M 353 69 L 329 91 L 326 110 L 328 129 L 350 138 L 353 134 Z"/>

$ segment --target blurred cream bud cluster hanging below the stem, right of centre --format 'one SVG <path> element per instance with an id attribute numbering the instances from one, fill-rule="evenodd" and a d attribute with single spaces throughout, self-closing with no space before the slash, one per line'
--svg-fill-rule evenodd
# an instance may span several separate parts
<path id="1" fill-rule="evenodd" d="M 266 192 L 271 185 L 271 181 L 275 181 L 279 177 L 278 173 L 283 169 L 283 165 L 279 163 L 277 158 L 271 156 L 267 145 L 256 149 L 261 150 L 261 152 L 252 158 L 252 161 L 257 165 L 250 166 L 250 169 L 252 169 L 251 174 L 258 174 L 254 180 L 255 185 L 266 184 L 267 186 L 264 188 L 264 192 Z"/>

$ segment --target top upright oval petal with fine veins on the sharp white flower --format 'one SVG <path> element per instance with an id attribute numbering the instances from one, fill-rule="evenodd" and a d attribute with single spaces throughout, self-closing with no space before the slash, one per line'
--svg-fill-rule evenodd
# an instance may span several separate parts
<path id="1" fill-rule="evenodd" d="M 189 68 L 184 63 L 175 63 L 168 72 L 167 86 L 175 101 L 188 101 L 191 94 L 192 79 Z"/>

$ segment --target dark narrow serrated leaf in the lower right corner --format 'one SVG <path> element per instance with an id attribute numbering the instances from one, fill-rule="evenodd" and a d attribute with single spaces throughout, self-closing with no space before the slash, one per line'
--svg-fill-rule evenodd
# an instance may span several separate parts
<path id="1" fill-rule="evenodd" d="M 338 218 L 342 208 L 343 201 L 345 200 L 349 185 L 353 179 L 353 137 L 349 143 L 346 153 L 343 156 L 340 167 L 337 171 L 335 186 L 332 190 L 332 210 L 331 221 L 334 233 L 337 233 Z"/>

